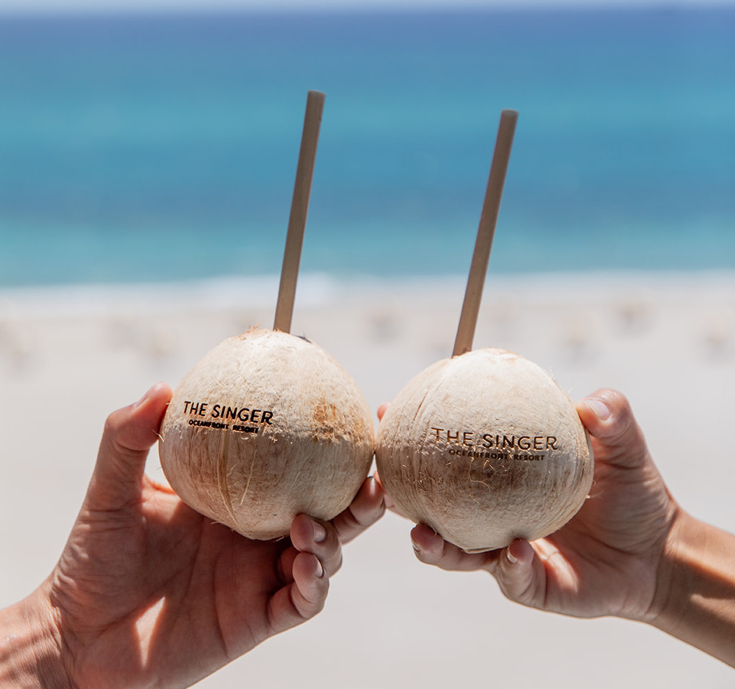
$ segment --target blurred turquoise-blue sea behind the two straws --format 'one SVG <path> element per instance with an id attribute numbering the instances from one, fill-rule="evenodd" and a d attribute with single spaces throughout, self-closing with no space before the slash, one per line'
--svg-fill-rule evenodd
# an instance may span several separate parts
<path id="1" fill-rule="evenodd" d="M 0 285 L 735 268 L 735 10 L 0 20 Z"/>

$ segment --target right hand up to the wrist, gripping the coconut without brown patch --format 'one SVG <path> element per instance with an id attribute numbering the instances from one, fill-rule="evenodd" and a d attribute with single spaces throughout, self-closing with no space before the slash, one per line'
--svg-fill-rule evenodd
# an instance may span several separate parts
<path id="1" fill-rule="evenodd" d="M 577 404 L 595 453 L 595 484 L 581 510 L 532 543 L 467 553 L 425 525 L 411 532 L 417 557 L 447 570 L 484 569 L 514 601 L 578 617 L 644 618 L 675 507 L 628 401 L 613 390 Z M 383 410 L 381 410 L 383 411 Z"/>

